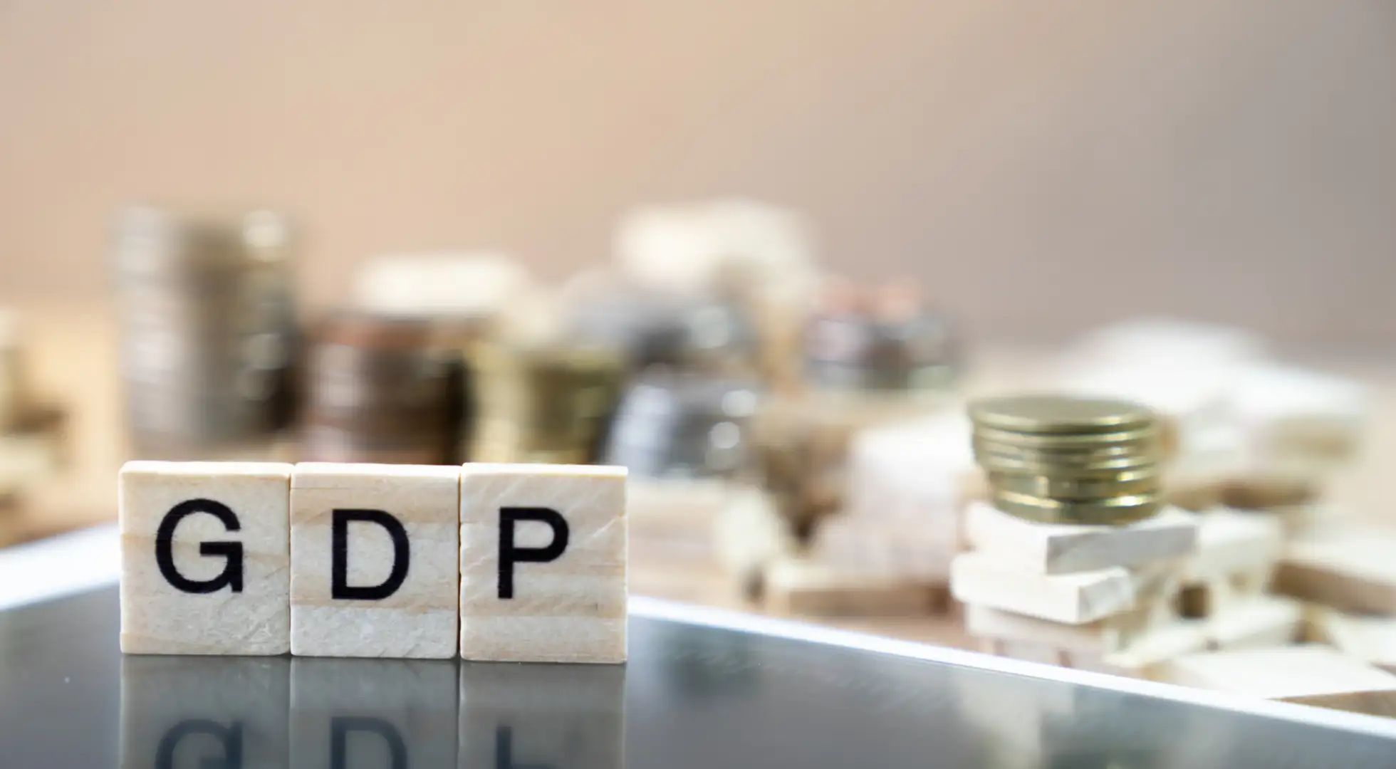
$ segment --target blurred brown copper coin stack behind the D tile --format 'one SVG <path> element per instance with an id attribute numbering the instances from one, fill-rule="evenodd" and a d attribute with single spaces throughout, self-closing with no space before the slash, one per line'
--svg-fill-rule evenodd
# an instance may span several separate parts
<path id="1" fill-rule="evenodd" d="M 455 463 L 466 378 L 459 349 L 429 320 L 331 315 L 309 353 L 302 459 Z"/>

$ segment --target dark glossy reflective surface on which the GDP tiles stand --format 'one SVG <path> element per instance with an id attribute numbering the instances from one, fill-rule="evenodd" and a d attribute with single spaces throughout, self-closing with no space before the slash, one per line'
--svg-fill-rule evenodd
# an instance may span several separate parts
<path id="1" fill-rule="evenodd" d="M 0 613 L 0 766 L 1396 766 L 1396 741 L 635 617 L 627 666 L 147 657 L 116 590 Z"/>

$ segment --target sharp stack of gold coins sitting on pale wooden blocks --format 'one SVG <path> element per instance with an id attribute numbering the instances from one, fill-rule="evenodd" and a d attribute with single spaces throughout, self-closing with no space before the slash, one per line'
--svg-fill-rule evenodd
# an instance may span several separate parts
<path id="1" fill-rule="evenodd" d="M 1000 511 L 1041 523 L 1124 525 L 1160 504 L 1159 417 L 1107 398 L 1022 395 L 969 408 L 974 459 Z"/>

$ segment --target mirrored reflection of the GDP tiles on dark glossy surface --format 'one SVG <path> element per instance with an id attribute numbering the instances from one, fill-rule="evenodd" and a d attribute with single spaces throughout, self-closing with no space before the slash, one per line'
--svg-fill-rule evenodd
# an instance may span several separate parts
<path id="1" fill-rule="evenodd" d="M 621 769 L 625 670 L 121 660 L 123 769 Z"/>

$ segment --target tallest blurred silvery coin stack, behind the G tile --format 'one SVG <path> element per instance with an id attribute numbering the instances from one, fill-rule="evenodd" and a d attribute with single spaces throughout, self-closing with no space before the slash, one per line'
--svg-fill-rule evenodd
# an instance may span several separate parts
<path id="1" fill-rule="evenodd" d="M 113 272 L 133 444 L 198 456 L 290 417 L 293 232 L 274 211 L 121 212 Z"/>

